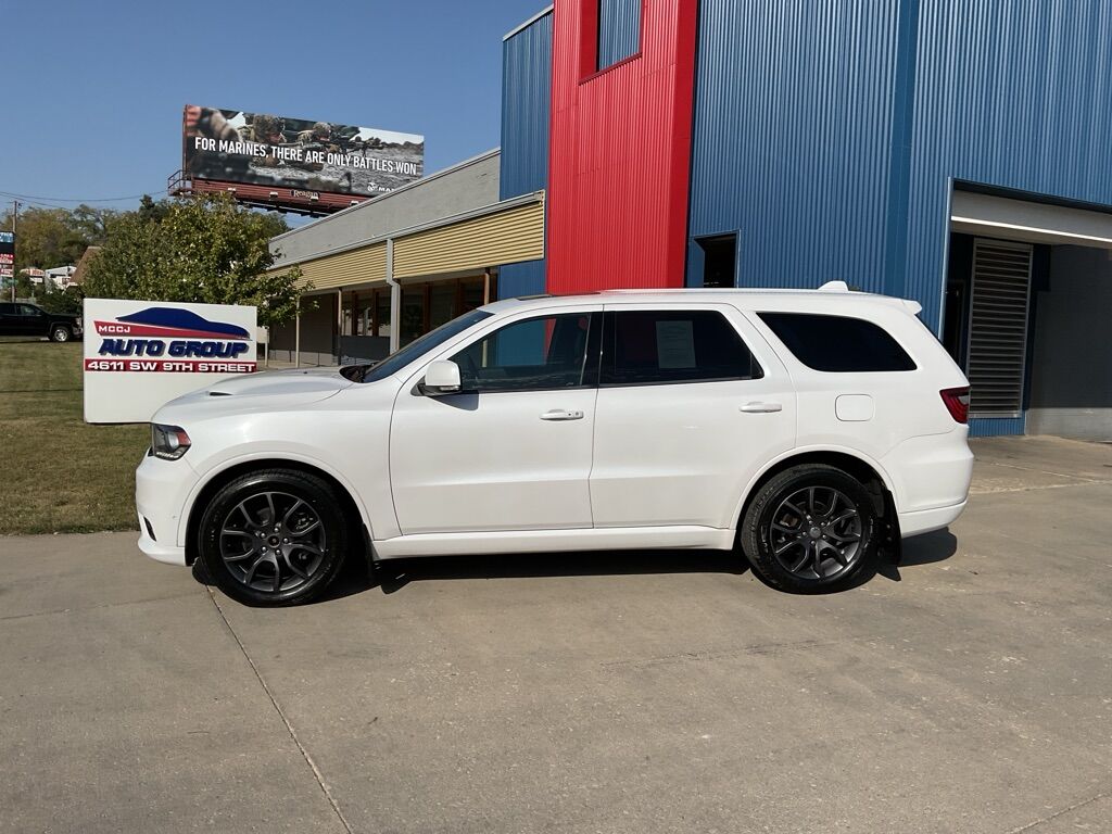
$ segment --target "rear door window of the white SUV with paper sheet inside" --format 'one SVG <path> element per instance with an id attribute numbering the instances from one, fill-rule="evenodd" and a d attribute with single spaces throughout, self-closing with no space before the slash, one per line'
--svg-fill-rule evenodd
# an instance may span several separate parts
<path id="1" fill-rule="evenodd" d="M 763 376 L 741 335 L 714 310 L 607 312 L 603 329 L 603 385 Z"/>

